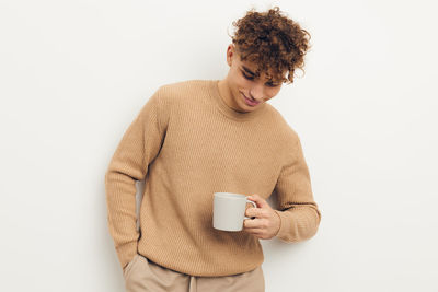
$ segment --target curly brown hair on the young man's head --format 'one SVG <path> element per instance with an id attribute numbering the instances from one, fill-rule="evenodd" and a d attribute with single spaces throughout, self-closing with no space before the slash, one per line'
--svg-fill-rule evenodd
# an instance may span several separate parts
<path id="1" fill-rule="evenodd" d="M 256 77 L 263 71 L 268 79 L 290 84 L 296 68 L 304 72 L 304 55 L 311 36 L 278 7 L 267 12 L 256 12 L 253 8 L 232 24 L 237 27 L 231 36 L 237 52 L 241 60 L 257 65 Z"/>

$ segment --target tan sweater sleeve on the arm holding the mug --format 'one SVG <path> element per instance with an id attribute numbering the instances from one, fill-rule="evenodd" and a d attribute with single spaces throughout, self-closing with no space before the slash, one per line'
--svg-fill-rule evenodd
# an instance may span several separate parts
<path id="1" fill-rule="evenodd" d="M 309 170 L 298 137 L 291 159 L 281 168 L 275 191 L 278 198 L 275 212 L 280 218 L 276 236 L 287 243 L 312 237 L 318 231 L 321 212 L 313 200 Z"/>

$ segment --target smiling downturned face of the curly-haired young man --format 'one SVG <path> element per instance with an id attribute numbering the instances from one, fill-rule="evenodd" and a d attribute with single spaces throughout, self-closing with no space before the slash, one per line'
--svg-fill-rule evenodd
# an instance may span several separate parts
<path id="1" fill-rule="evenodd" d="M 281 81 L 268 80 L 265 72 L 255 77 L 256 66 L 241 61 L 233 44 L 228 46 L 227 62 L 230 70 L 226 78 L 230 95 L 228 102 L 239 112 L 253 112 L 269 101 L 281 89 Z"/>

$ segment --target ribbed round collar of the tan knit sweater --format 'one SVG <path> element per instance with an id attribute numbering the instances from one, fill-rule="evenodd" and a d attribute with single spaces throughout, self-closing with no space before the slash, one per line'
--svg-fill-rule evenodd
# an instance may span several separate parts
<path id="1" fill-rule="evenodd" d="M 228 106 L 219 94 L 219 86 L 218 86 L 219 81 L 220 80 L 210 80 L 209 87 L 210 87 L 210 94 L 214 97 L 215 103 L 218 106 L 219 110 L 222 112 L 222 114 L 234 120 L 250 120 L 262 115 L 262 113 L 266 108 L 266 103 L 261 104 L 257 109 L 247 113 L 241 113 Z"/>

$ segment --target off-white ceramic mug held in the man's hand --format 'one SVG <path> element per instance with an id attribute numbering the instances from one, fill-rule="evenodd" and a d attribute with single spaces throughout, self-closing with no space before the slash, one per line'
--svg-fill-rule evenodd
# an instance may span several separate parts
<path id="1" fill-rule="evenodd" d="M 245 217 L 246 203 L 252 203 L 257 208 L 257 205 L 246 199 L 245 195 L 215 192 L 212 226 L 222 231 L 241 231 L 243 220 L 254 219 Z"/>

